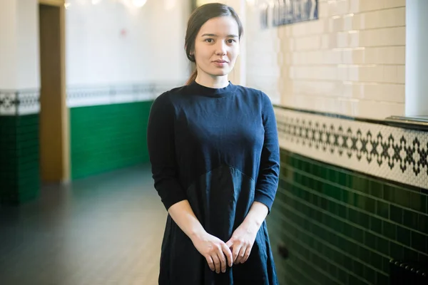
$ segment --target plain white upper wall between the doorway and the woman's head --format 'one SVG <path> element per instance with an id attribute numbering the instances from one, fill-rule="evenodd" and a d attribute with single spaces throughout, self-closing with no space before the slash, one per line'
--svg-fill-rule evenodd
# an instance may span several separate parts
<path id="1" fill-rule="evenodd" d="M 112 0 L 70 0 L 66 10 L 68 86 L 185 82 L 188 5 L 148 0 L 137 9 Z M 122 33 L 122 32 L 125 33 Z"/>

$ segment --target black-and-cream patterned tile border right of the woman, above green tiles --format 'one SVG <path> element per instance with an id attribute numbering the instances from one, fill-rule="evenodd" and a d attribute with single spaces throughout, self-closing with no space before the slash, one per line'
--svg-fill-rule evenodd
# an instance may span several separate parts
<path id="1" fill-rule="evenodd" d="M 275 107 L 280 146 L 428 189 L 428 133 Z"/>

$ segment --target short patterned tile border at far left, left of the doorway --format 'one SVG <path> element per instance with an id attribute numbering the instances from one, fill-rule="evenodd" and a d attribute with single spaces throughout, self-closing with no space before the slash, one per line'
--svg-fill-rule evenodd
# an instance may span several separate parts
<path id="1" fill-rule="evenodd" d="M 0 90 L 0 116 L 39 113 L 39 98 L 39 89 Z"/>

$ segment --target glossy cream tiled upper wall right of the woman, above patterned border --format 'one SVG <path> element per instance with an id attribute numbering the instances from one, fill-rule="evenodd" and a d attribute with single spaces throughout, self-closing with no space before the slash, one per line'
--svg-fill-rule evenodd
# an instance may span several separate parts
<path id="1" fill-rule="evenodd" d="M 404 115 L 405 0 L 318 4 L 316 21 L 265 29 L 259 6 L 248 5 L 248 86 L 293 108 L 376 119 Z"/>

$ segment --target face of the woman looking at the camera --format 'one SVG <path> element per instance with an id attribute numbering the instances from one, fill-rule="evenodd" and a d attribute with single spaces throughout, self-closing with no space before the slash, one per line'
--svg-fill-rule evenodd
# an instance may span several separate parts
<path id="1" fill-rule="evenodd" d="M 194 56 L 198 73 L 208 76 L 230 73 L 239 54 L 238 34 L 238 23 L 231 16 L 206 21 L 195 39 Z"/>

